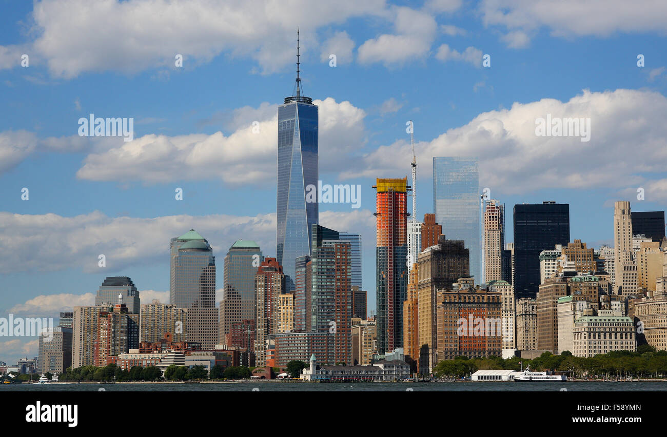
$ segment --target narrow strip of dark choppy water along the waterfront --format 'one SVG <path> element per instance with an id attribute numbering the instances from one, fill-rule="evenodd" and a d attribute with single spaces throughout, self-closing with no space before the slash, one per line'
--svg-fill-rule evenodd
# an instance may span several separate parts
<path id="1" fill-rule="evenodd" d="M 205 384 L 0 384 L 0 392 L 667 392 L 660 382 L 229 382 Z"/>

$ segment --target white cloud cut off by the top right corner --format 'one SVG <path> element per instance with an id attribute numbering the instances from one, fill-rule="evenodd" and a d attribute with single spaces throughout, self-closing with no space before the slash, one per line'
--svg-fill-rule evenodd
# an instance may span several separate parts
<path id="1" fill-rule="evenodd" d="M 667 3 L 662 0 L 484 0 L 479 9 L 484 25 L 523 31 L 548 27 L 556 37 L 664 35 L 667 29 Z"/>

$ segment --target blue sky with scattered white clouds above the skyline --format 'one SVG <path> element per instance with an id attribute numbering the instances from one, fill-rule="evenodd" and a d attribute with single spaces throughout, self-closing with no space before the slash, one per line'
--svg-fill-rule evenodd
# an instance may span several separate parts
<path id="1" fill-rule="evenodd" d="M 321 203 L 319 221 L 362 234 L 369 310 L 372 185 L 410 179 L 409 120 L 420 218 L 434 156 L 479 157 L 507 242 L 516 203 L 569 203 L 571 238 L 596 249 L 614 201 L 667 205 L 662 0 L 0 0 L 0 318 L 93 304 L 107 276 L 168 302 L 169 240 L 191 228 L 218 290 L 235 240 L 275 256 L 297 27 L 319 178 L 362 187 L 360 207 Z M 133 119 L 132 141 L 80 136 L 90 114 Z M 590 140 L 538 135 L 547 115 L 590 119 Z M 36 355 L 36 337 L 0 338 L 0 361 Z"/>

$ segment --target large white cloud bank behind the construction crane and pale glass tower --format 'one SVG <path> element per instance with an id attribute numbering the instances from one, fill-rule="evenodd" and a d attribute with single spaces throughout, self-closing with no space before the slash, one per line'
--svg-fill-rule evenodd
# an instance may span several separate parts
<path id="1" fill-rule="evenodd" d="M 590 141 L 536 136 L 536 118 L 548 113 L 552 117 L 590 117 Z M 478 156 L 480 185 L 502 193 L 644 186 L 640 183 L 647 180 L 646 175 L 664 172 L 667 164 L 666 113 L 667 98 L 660 93 L 629 89 L 584 90 L 565 102 L 514 103 L 510 109 L 481 113 L 466 125 L 418 143 L 418 174 L 430 177 L 434 156 Z M 352 169 L 343 176 L 403 171 L 397 166 L 400 156 L 410 156 L 410 145 L 404 140 L 378 147 L 364 157 L 364 171 Z M 664 182 L 654 183 L 655 187 L 645 185 L 647 192 L 662 192 Z"/>

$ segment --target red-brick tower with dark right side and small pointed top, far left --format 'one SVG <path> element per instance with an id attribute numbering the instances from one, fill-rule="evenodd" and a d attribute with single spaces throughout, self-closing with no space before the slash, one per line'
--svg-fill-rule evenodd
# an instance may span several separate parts
<path id="1" fill-rule="evenodd" d="M 121 298 L 119 297 L 119 300 Z M 139 348 L 139 314 L 131 314 L 125 304 L 101 311 L 97 318 L 97 338 L 93 347 L 95 366 L 107 365 L 107 358 Z"/>

